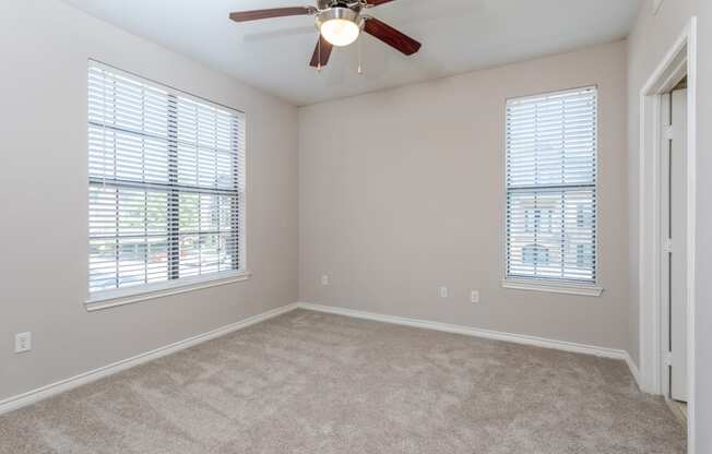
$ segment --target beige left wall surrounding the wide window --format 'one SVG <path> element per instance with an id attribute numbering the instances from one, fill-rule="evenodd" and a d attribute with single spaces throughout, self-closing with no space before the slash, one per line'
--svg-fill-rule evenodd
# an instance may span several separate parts
<path id="1" fill-rule="evenodd" d="M 295 301 L 296 108 L 56 0 L 0 1 L 0 401 Z M 249 282 L 84 310 L 90 57 L 247 112 Z"/>

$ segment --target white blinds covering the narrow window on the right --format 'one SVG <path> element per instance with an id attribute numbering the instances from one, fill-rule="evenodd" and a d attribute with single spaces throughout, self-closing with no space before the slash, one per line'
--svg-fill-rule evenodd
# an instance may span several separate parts
<path id="1" fill-rule="evenodd" d="M 507 103 L 507 278 L 596 282 L 597 92 Z"/>

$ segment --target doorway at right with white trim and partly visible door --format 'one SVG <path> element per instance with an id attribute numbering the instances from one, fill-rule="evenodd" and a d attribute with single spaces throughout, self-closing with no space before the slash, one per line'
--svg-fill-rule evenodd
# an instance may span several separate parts
<path id="1" fill-rule="evenodd" d="M 640 310 L 639 384 L 643 391 L 664 395 L 671 403 L 676 398 L 687 399 L 690 454 L 696 452 L 697 429 L 697 17 L 691 17 L 640 91 L 639 210 L 636 216 L 639 236 L 636 295 Z M 680 86 L 683 80 L 685 86 Z M 676 88 L 678 94 L 674 93 Z M 676 98 L 684 98 L 687 105 L 683 107 L 684 104 L 676 103 Z M 677 109 L 686 113 L 686 128 L 679 126 L 684 132 L 675 131 L 675 117 L 680 119 L 679 112 L 675 115 Z M 665 115 L 669 115 L 672 122 L 664 121 Z M 686 153 L 676 154 L 675 147 L 685 148 Z M 684 192 L 680 186 L 685 187 Z"/>

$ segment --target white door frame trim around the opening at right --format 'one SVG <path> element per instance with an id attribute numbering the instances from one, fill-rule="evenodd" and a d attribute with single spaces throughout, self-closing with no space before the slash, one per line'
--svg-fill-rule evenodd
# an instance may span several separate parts
<path id="1" fill-rule="evenodd" d="M 639 263 L 640 374 L 643 391 L 662 394 L 661 97 L 687 74 L 688 449 L 695 453 L 695 235 L 697 156 L 697 17 L 691 17 L 640 91 Z"/>

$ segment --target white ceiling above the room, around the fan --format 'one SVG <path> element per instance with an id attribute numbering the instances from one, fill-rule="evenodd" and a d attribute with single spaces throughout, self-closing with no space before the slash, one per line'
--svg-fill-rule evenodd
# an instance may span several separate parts
<path id="1" fill-rule="evenodd" d="M 368 35 L 334 49 L 317 73 L 313 19 L 237 24 L 230 11 L 315 4 L 310 0 L 64 0 L 167 48 L 302 106 L 628 35 L 641 0 L 396 0 L 370 14 L 423 43 L 405 57 Z"/>

